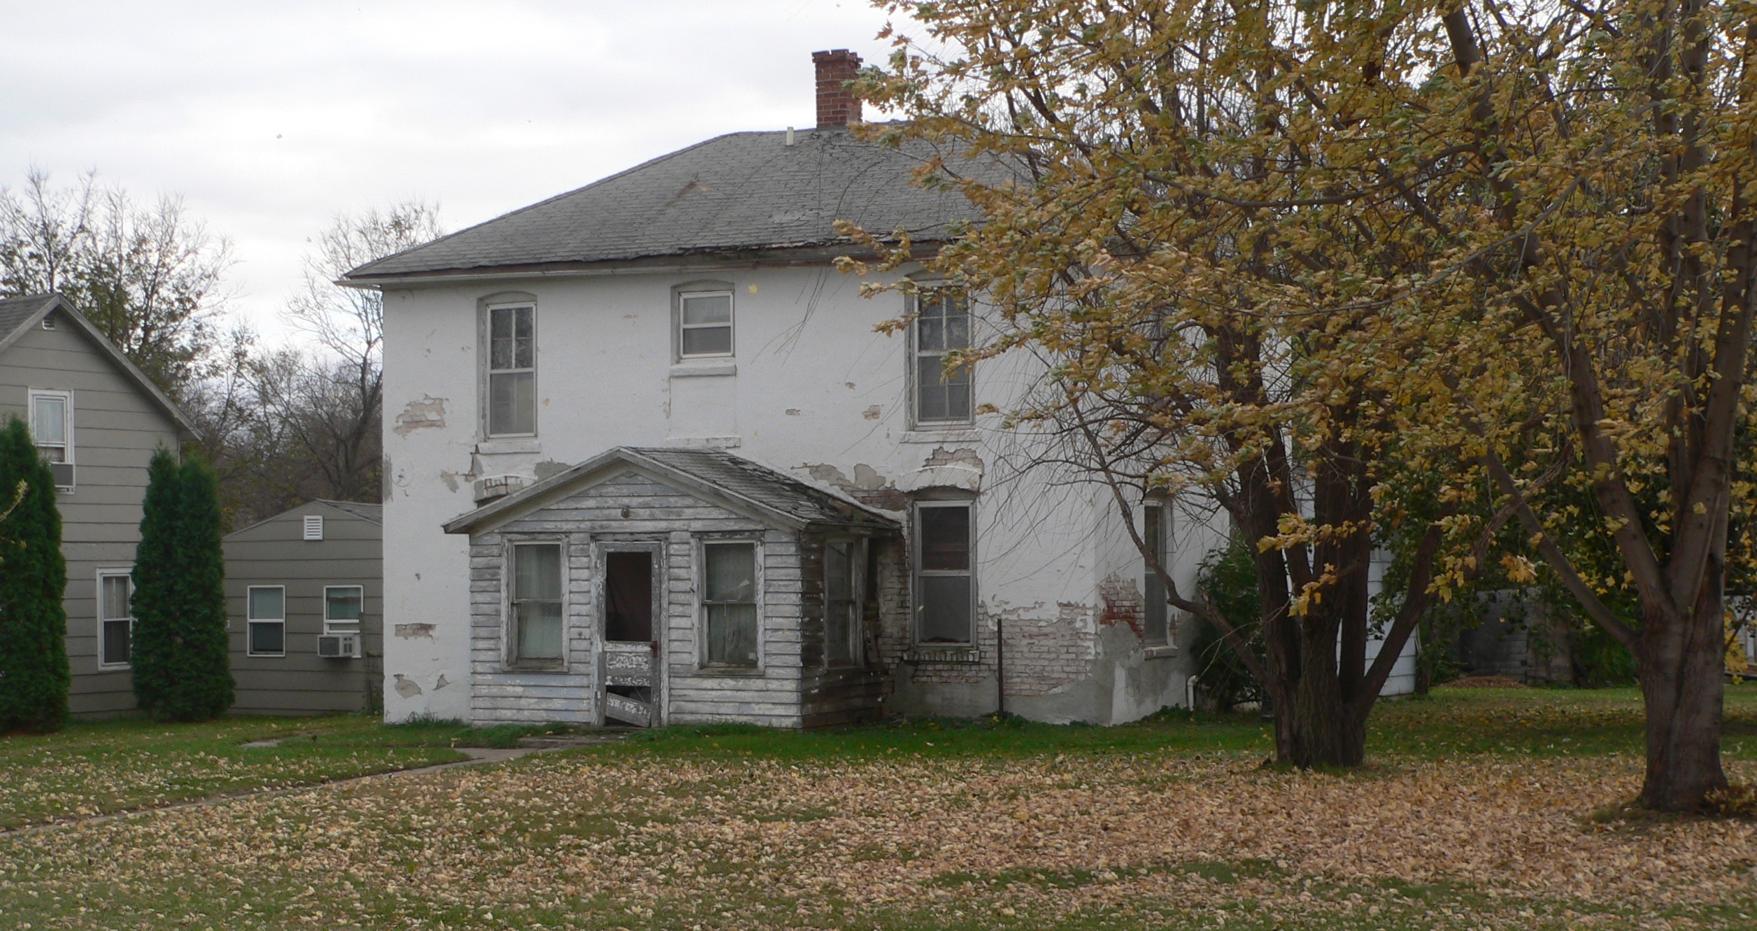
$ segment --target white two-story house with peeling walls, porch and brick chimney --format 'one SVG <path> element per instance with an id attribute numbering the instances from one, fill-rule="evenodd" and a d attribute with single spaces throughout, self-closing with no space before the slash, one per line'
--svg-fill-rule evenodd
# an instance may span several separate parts
<path id="1" fill-rule="evenodd" d="M 1031 371 L 947 378 L 982 337 L 965 295 L 863 299 L 833 269 L 836 220 L 922 255 L 975 214 L 910 184 L 926 151 L 850 135 L 857 56 L 813 60 L 812 130 L 710 139 L 348 274 L 385 295 L 390 720 L 1184 703 L 1177 618 L 1109 492 L 1010 469 L 1017 437 L 979 413 Z M 1142 504 L 1193 583 L 1218 534 Z"/>

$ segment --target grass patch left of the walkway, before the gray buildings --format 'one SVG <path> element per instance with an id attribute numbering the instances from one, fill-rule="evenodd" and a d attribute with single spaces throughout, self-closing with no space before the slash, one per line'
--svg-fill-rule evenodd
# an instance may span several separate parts
<path id="1" fill-rule="evenodd" d="M 504 745 L 517 733 L 385 727 L 358 715 L 81 722 L 60 734 L 0 738 L 0 829 L 453 762 L 466 759 L 455 745 Z M 271 740 L 279 745 L 244 747 Z"/>

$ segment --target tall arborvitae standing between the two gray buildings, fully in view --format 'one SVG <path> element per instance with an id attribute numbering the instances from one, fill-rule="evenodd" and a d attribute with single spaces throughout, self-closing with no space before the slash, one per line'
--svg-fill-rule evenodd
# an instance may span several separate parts
<path id="1" fill-rule="evenodd" d="M 232 706 L 225 555 L 213 471 L 165 450 L 148 469 L 134 562 L 134 696 L 160 720 L 207 720 Z"/>

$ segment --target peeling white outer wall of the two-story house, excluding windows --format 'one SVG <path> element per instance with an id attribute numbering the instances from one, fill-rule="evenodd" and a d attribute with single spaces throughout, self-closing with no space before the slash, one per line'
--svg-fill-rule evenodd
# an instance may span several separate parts
<path id="1" fill-rule="evenodd" d="M 673 365 L 671 288 L 699 279 L 734 288 L 736 374 Z M 1107 494 L 1005 474 L 1003 437 L 980 429 L 910 429 L 907 341 L 875 332 L 903 313 L 903 297 L 861 299 L 859 283 L 833 269 L 771 267 L 388 290 L 387 718 L 469 717 L 469 559 L 466 539 L 441 523 L 474 508 L 473 481 L 541 478 L 610 446 L 710 443 L 819 485 L 980 488 L 977 585 L 984 606 L 1009 617 L 1096 610 L 1110 576 L 1139 585 L 1140 559 Z M 480 439 L 478 302 L 499 292 L 538 302 L 534 441 Z M 977 401 L 1005 406 L 1026 374 L 980 367 Z M 1191 585 L 1218 534 L 1177 520 L 1179 585 Z M 1181 701 L 1181 678 L 1165 692 L 1116 706 L 1139 717 Z"/>

